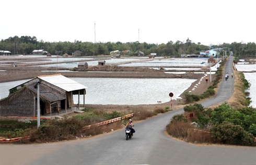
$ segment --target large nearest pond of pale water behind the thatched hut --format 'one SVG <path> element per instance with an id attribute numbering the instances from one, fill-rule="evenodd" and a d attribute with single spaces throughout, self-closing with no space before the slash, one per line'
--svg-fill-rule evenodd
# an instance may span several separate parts
<path id="1" fill-rule="evenodd" d="M 177 99 L 195 79 L 128 79 L 128 78 L 70 78 L 87 86 L 86 104 L 138 105 L 165 103 L 170 101 L 169 93 Z M 8 96 L 8 90 L 28 80 L 0 83 L 0 97 Z M 74 95 L 74 103 L 78 95 Z M 83 103 L 83 95 L 80 96 Z"/>

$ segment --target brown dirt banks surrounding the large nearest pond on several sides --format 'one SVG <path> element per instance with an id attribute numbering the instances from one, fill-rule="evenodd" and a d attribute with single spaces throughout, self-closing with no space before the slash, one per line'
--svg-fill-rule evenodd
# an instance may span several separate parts
<path id="1" fill-rule="evenodd" d="M 185 74 L 173 74 L 165 73 L 165 70 L 155 70 L 149 68 L 141 67 L 119 67 L 114 65 L 107 66 L 91 66 L 84 71 L 74 71 L 66 70 L 66 68 L 56 68 L 54 67 L 0 67 L 0 82 L 17 81 L 24 79 L 32 79 L 40 75 L 51 75 L 61 73 L 66 77 L 86 77 L 86 78 L 184 78 L 184 79 L 196 79 L 191 86 L 183 92 L 181 96 L 184 96 L 185 92 L 189 92 L 192 88 L 199 83 L 204 74 L 193 73 L 193 71 L 188 71 Z M 61 70 L 61 72 L 59 71 Z M 196 70 L 198 71 L 198 70 Z M 201 70 L 202 71 L 202 70 Z M 179 71 L 177 71 L 179 72 Z M 212 75 L 212 80 L 214 80 L 214 75 Z M 201 84 L 192 91 L 193 94 L 200 95 L 207 88 L 212 85 L 211 82 L 208 83 L 203 80 Z M 86 105 L 88 108 L 94 109 L 104 109 L 104 110 L 136 110 L 136 109 L 147 109 L 154 110 L 156 108 L 165 108 L 166 106 L 172 107 L 172 109 L 179 108 L 184 104 L 184 99 L 172 100 L 172 103 L 162 103 L 155 105 Z"/>

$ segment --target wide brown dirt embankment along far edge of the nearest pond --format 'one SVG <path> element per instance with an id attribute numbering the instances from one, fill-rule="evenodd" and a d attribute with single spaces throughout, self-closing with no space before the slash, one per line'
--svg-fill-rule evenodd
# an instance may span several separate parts
<path id="1" fill-rule="evenodd" d="M 66 77 L 86 77 L 86 78 L 185 78 L 199 79 L 203 74 L 195 74 L 192 71 L 186 74 L 165 73 L 165 71 L 118 66 L 93 66 L 84 71 L 69 71 L 62 68 L 44 67 L 2 67 L 0 70 L 0 82 L 32 79 L 39 75 L 59 74 Z M 59 71 L 61 70 L 61 71 Z"/>

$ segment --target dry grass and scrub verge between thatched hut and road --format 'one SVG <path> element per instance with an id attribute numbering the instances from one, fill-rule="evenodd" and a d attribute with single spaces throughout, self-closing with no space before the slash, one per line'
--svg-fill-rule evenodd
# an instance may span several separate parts
<path id="1" fill-rule="evenodd" d="M 123 125 L 126 124 L 127 119 L 101 126 L 91 126 L 90 129 L 83 129 L 84 126 L 122 117 L 130 113 L 134 113 L 134 116 L 132 117 L 134 121 L 139 121 L 170 110 L 171 109 L 168 106 L 150 111 L 142 108 L 122 112 L 116 110 L 104 111 L 85 108 L 83 109 L 84 113 L 73 117 L 64 116 L 62 119 L 42 120 L 40 121 L 41 125 L 39 128 L 37 128 L 37 121 L 29 121 L 28 123 L 25 123 L 17 120 L 1 120 L 0 137 L 30 137 L 29 139 L 22 139 L 22 141 L 16 143 L 48 143 L 86 138 L 121 129 L 123 128 Z"/>

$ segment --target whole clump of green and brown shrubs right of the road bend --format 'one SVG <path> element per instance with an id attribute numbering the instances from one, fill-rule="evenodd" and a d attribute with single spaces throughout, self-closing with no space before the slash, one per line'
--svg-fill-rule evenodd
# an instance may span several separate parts
<path id="1" fill-rule="evenodd" d="M 235 145 L 248 145 L 254 146 L 253 136 L 256 135 L 256 110 L 252 107 L 234 109 L 229 105 L 222 104 L 214 109 L 205 109 L 200 104 L 194 104 L 184 107 L 185 112 L 192 112 L 194 116 L 192 121 L 195 121 L 198 126 L 197 129 L 209 129 L 211 137 L 216 143 L 235 144 Z M 171 122 L 168 124 L 168 133 L 172 135 L 184 134 L 186 129 L 178 129 L 181 122 L 187 122 L 183 115 L 176 115 L 172 117 Z M 179 123 L 179 124 L 178 124 Z M 192 138 L 200 138 L 194 132 L 190 132 L 190 136 L 183 137 L 187 141 Z M 199 141 L 198 141 L 199 142 Z M 200 138 L 200 142 L 202 138 Z M 206 141 L 205 141 L 206 142 Z"/>

